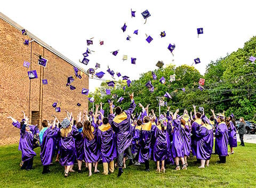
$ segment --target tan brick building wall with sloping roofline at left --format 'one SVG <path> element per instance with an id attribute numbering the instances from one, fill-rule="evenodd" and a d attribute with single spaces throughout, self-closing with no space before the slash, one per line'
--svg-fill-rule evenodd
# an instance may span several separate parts
<path id="1" fill-rule="evenodd" d="M 23 110 L 30 124 L 41 127 L 42 120 L 52 119 L 52 114 L 63 119 L 67 109 L 76 118 L 79 111 L 88 108 L 87 97 L 81 92 L 89 88 L 89 75 L 30 32 L 22 35 L 22 29 L 0 13 L 0 145 L 17 143 L 20 138 L 20 130 L 12 126 L 8 115 L 21 121 Z M 23 44 L 25 39 L 31 41 L 28 46 Z M 39 55 L 48 60 L 46 67 L 38 65 Z M 24 61 L 30 63 L 29 68 L 23 66 Z M 75 79 L 72 86 L 76 89 L 70 90 L 66 83 L 68 76 L 75 78 L 73 66 L 82 79 Z M 28 71 L 32 70 L 36 70 L 38 78 L 29 80 Z M 43 79 L 48 84 L 42 84 Z M 59 113 L 52 107 L 55 101 L 58 107 L 61 104 Z"/>

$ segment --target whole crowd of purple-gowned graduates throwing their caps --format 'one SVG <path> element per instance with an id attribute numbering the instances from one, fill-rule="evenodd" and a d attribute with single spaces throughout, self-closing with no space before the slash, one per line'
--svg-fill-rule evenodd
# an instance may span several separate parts
<path id="1" fill-rule="evenodd" d="M 13 126 L 20 129 L 19 150 L 22 153 L 21 169 L 32 169 L 36 156 L 35 147 L 40 147 L 43 174 L 50 173 L 49 166 L 56 153 L 56 161 L 65 167 L 64 176 L 75 172 L 73 166 L 78 165 L 78 173 L 82 172 L 85 162 L 89 176 L 99 173 L 98 163 L 103 164 L 103 174 L 114 173 L 118 167 L 118 176 L 126 168 L 126 160 L 130 165 L 145 164 L 150 170 L 149 160 L 156 162 L 156 171 L 165 172 L 166 164 L 174 164 L 175 170 L 186 170 L 189 156 L 195 156 L 201 165 L 209 166 L 212 153 L 219 155 L 217 163 L 226 163 L 226 156 L 234 153 L 237 147 L 234 115 L 225 117 L 214 114 L 207 118 L 204 111 L 188 113 L 179 109 L 174 113 L 167 107 L 167 112 L 156 117 L 154 110 L 149 112 L 149 105 L 143 107 L 141 113 L 134 115 L 135 101 L 130 95 L 131 105 L 127 110 L 116 107 L 109 101 L 110 114 L 105 116 L 102 104 L 95 105 L 95 112 L 80 112 L 74 119 L 72 113 L 59 121 L 42 121 L 42 129 L 29 125 L 29 118 L 23 113 L 18 122 L 11 116 Z M 100 108 L 100 109 L 99 109 Z M 243 119 L 242 119 L 243 121 Z M 215 136 L 215 148 L 213 138 Z M 228 144 L 230 153 L 228 153 Z M 181 164 L 180 164 L 181 163 Z"/>

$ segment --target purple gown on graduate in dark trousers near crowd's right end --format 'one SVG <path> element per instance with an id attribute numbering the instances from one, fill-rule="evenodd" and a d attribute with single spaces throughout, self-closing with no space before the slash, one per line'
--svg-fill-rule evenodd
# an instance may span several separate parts
<path id="1" fill-rule="evenodd" d="M 225 122 L 219 123 L 216 127 L 215 153 L 219 156 L 228 155 L 228 128 Z"/>

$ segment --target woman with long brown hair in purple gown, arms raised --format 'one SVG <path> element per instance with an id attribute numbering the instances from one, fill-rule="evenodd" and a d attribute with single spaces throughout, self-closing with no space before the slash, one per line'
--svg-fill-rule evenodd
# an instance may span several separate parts
<path id="1" fill-rule="evenodd" d="M 89 168 L 89 176 L 92 175 L 92 163 L 95 163 L 94 173 L 99 173 L 98 170 L 98 161 L 100 160 L 100 144 L 98 143 L 97 132 L 98 132 L 98 124 L 97 116 L 99 105 L 95 105 L 96 110 L 95 114 L 92 118 L 92 123 L 88 122 L 89 117 L 87 114 L 85 115 L 85 123 L 83 127 L 83 135 L 84 135 L 84 160 L 88 163 Z M 93 136 L 91 135 L 93 134 Z"/>

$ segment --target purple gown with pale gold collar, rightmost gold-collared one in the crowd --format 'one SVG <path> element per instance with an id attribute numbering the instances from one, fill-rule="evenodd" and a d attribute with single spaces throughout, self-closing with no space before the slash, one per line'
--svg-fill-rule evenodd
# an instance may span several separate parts
<path id="1" fill-rule="evenodd" d="M 196 131 L 197 149 L 196 158 L 202 160 L 209 160 L 212 155 L 213 148 L 213 130 L 212 126 L 208 124 L 202 125 Z"/>

